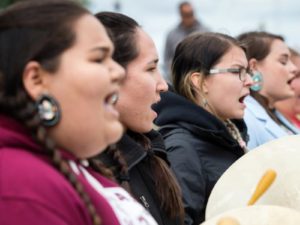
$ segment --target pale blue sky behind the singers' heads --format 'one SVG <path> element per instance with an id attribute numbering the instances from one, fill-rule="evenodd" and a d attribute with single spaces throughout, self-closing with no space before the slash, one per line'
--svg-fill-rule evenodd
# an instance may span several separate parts
<path id="1" fill-rule="evenodd" d="M 180 0 L 90 0 L 92 12 L 114 11 L 136 19 L 153 38 L 162 59 L 167 32 L 179 22 Z M 212 31 L 236 36 L 249 30 L 264 30 L 285 37 L 300 48 L 299 0 L 191 0 L 196 16 Z M 162 61 L 162 60 L 161 60 Z"/>

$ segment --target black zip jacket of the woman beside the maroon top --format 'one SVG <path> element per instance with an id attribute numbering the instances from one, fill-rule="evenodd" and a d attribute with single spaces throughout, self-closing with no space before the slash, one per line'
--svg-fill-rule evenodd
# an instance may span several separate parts
<path id="1" fill-rule="evenodd" d="M 138 144 L 128 134 L 125 134 L 117 143 L 117 148 L 121 151 L 128 165 L 131 193 L 151 213 L 159 225 L 179 225 L 179 219 L 171 219 L 161 209 L 154 185 L 155 177 L 152 173 L 151 164 L 153 154 L 167 162 L 163 138 L 154 130 L 146 134 L 146 136 L 151 143 L 151 148 L 148 150 Z M 115 164 L 105 152 L 101 155 L 101 159 L 110 167 L 113 167 Z M 121 183 L 123 177 L 118 176 L 118 174 L 115 174 L 115 176 Z"/>

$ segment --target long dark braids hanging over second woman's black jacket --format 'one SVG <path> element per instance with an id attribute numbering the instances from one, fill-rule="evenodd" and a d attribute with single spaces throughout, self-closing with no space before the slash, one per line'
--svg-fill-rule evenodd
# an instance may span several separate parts
<path id="1" fill-rule="evenodd" d="M 130 130 L 127 130 L 126 134 L 138 145 L 141 145 L 149 156 L 151 173 L 155 178 L 153 182 L 161 209 L 165 210 L 171 218 L 179 218 L 183 221 L 184 209 L 181 201 L 181 190 L 167 163 L 154 154 L 151 140 L 146 135 Z M 127 163 L 120 148 L 122 148 L 120 143 L 110 146 L 105 154 L 95 157 L 95 160 L 103 160 L 111 165 L 111 170 L 114 171 L 120 185 L 132 193 Z"/>

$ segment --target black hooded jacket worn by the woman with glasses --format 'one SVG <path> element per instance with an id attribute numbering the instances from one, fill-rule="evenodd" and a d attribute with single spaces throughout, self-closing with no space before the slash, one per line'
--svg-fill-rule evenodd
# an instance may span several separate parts
<path id="1" fill-rule="evenodd" d="M 204 221 L 210 192 L 224 171 L 244 154 L 215 116 L 173 92 L 156 105 L 168 160 L 183 193 L 185 224 Z M 246 139 L 243 120 L 233 121 Z"/>

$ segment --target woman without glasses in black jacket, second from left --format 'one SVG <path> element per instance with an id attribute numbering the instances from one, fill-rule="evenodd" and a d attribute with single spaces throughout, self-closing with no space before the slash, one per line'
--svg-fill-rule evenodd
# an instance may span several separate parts
<path id="1" fill-rule="evenodd" d="M 167 164 L 163 139 L 153 130 L 157 114 L 152 107 L 168 88 L 158 70 L 154 42 L 126 15 L 101 12 L 96 17 L 114 43 L 113 59 L 126 71 L 116 104 L 126 133 L 101 159 L 114 168 L 120 184 L 149 210 L 158 224 L 182 224 L 180 189 Z"/>

